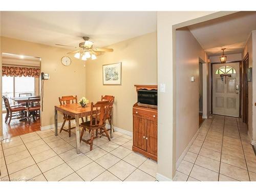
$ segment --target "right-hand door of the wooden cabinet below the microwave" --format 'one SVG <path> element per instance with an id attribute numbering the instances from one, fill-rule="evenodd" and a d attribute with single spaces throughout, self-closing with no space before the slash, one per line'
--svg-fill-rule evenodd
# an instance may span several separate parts
<path id="1" fill-rule="evenodd" d="M 147 120 L 146 121 L 146 145 L 147 152 L 157 155 L 157 122 Z"/>

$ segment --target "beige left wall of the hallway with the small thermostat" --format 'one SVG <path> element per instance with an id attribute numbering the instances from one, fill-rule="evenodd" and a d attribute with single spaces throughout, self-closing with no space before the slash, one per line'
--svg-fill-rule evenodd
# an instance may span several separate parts
<path id="1" fill-rule="evenodd" d="M 199 58 L 204 50 L 193 34 L 176 30 L 176 161 L 199 129 Z"/>

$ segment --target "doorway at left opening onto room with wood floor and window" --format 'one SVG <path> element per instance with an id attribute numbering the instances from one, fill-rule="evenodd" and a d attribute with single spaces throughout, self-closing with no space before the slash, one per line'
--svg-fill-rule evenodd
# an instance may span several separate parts
<path id="1" fill-rule="evenodd" d="M 2 53 L 2 63 L 4 139 L 39 131 L 40 58 Z"/>

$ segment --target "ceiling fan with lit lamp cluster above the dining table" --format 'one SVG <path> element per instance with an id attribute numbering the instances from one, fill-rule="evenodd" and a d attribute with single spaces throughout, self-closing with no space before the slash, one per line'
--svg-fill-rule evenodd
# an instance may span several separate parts
<path id="1" fill-rule="evenodd" d="M 69 52 L 67 54 L 75 53 L 74 57 L 82 60 L 87 60 L 88 58 L 96 59 L 98 55 L 100 55 L 102 52 L 113 52 L 113 49 L 106 49 L 106 48 L 94 48 L 93 47 L 93 41 L 90 41 L 89 37 L 82 37 L 84 42 L 80 42 L 79 44 L 79 50 Z M 55 44 L 57 46 L 66 46 L 66 47 L 73 47 L 73 46 L 67 46 L 67 45 L 61 45 L 61 44 Z M 74 47 L 77 48 L 77 47 Z"/>

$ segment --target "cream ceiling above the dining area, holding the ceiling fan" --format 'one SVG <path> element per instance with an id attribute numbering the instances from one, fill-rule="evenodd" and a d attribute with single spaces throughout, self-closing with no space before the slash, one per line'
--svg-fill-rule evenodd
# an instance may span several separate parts
<path id="1" fill-rule="evenodd" d="M 1 12 L 1 35 L 40 44 L 78 47 L 89 36 L 94 47 L 157 31 L 157 12 Z"/>

